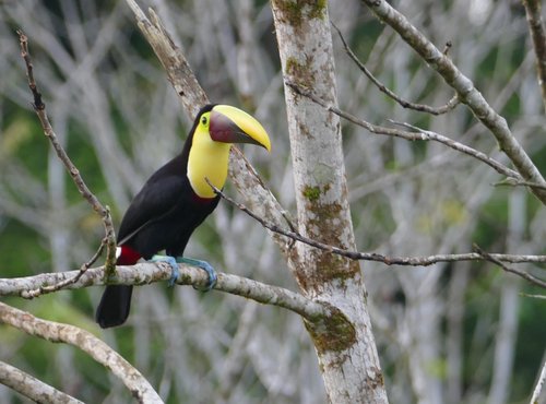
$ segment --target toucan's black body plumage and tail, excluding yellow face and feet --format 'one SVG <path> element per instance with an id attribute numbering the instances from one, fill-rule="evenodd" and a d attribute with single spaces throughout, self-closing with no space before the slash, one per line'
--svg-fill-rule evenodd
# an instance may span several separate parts
<path id="1" fill-rule="evenodd" d="M 193 230 L 218 204 L 219 197 L 198 197 L 187 177 L 193 133 L 201 115 L 212 107 L 198 114 L 182 152 L 155 171 L 129 205 L 118 231 L 118 264 L 132 265 L 162 250 L 167 256 L 181 257 Z M 129 253 L 123 254 L 124 248 Z M 97 307 L 97 323 L 102 328 L 122 324 L 129 316 L 131 295 L 130 285 L 108 285 Z"/>

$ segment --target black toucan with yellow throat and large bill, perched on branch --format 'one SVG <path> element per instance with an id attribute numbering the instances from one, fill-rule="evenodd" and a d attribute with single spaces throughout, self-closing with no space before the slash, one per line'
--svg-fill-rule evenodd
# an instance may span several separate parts
<path id="1" fill-rule="evenodd" d="M 182 258 L 193 230 L 219 201 L 209 181 L 222 189 L 229 150 L 234 143 L 251 143 L 271 151 L 263 127 L 247 112 L 228 105 L 206 105 L 198 112 L 182 152 L 155 171 L 133 198 L 118 231 L 118 265 L 140 259 L 198 265 L 209 273 L 207 289 L 216 274 L 205 261 Z M 165 250 L 166 256 L 155 256 Z M 161 258 L 163 257 L 163 259 Z M 132 286 L 108 285 L 96 311 L 103 328 L 122 324 L 131 307 Z"/>

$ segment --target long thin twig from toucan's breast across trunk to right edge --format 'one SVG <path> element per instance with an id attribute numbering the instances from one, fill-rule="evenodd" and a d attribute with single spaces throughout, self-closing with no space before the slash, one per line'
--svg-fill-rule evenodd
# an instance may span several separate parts
<path id="1" fill-rule="evenodd" d="M 352 260 L 359 260 L 359 261 L 376 261 L 376 262 L 382 262 L 385 265 L 404 265 L 404 266 L 429 266 L 436 263 L 440 262 L 458 262 L 458 261 L 490 261 L 494 262 L 509 262 L 509 263 L 524 263 L 524 262 L 534 262 L 534 263 L 546 263 L 546 256 L 521 256 L 521 254 L 500 254 L 500 253 L 486 253 L 484 251 L 480 252 L 467 252 L 467 253 L 460 253 L 460 254 L 436 254 L 436 256 L 428 256 L 428 257 L 390 257 L 390 256 L 384 256 L 378 252 L 360 252 L 360 251 L 351 251 L 351 250 L 345 250 L 339 247 L 330 246 L 324 242 L 320 242 L 313 239 L 310 239 L 308 237 L 305 237 L 300 235 L 299 233 L 296 231 L 290 231 L 286 230 L 283 228 L 280 228 L 278 226 L 268 223 L 261 217 L 259 217 L 257 214 L 254 214 L 252 211 L 250 211 L 247 206 L 245 206 L 241 203 L 238 203 L 234 201 L 232 198 L 227 197 L 222 190 L 218 188 L 214 187 L 212 182 L 206 179 L 206 182 L 209 186 L 214 190 L 216 194 L 218 194 L 222 199 L 226 200 L 240 211 L 245 212 L 247 215 L 256 219 L 258 223 L 260 223 L 263 227 L 266 229 L 278 233 L 283 236 L 289 237 L 296 241 L 304 242 L 308 246 L 318 248 L 323 251 L 331 252 L 333 254 L 337 254 L 341 257 L 345 257 Z M 500 264 L 500 266 L 510 273 L 513 273 L 515 275 L 519 275 L 526 281 L 546 288 L 546 282 L 530 275 L 529 273 L 520 270 L 514 270 L 511 268 L 508 268 L 506 265 Z"/>

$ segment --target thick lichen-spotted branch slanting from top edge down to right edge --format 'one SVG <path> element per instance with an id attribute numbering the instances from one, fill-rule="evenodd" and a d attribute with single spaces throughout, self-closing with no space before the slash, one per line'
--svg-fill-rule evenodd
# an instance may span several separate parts
<path id="1" fill-rule="evenodd" d="M 430 40 L 428 40 L 410 21 L 393 9 L 384 0 L 361 0 L 384 24 L 391 26 L 410 45 L 428 66 L 440 74 L 446 83 L 451 86 L 461 100 L 474 116 L 497 139 L 500 148 L 517 167 L 518 173 L 524 180 L 546 185 L 542 174 L 538 171 L 525 150 L 513 136 L 508 123 L 484 96 L 477 91 L 473 82 L 466 78 Z M 546 204 L 546 191 L 541 188 L 531 188 L 531 191 Z"/>

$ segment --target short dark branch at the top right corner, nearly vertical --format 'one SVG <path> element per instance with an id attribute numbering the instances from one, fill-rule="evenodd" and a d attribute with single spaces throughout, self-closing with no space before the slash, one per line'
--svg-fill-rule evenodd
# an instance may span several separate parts
<path id="1" fill-rule="evenodd" d="M 542 17 L 539 0 L 522 0 L 527 16 L 529 31 L 533 39 L 533 49 L 536 57 L 536 73 L 538 85 L 543 96 L 543 104 L 546 108 L 546 33 Z"/>

